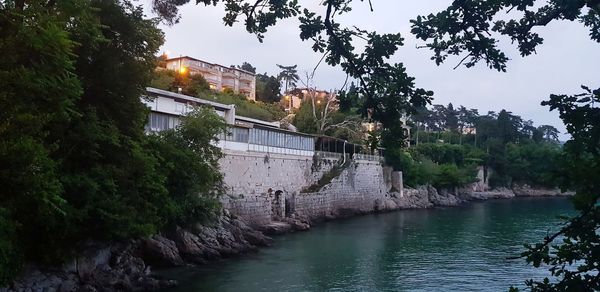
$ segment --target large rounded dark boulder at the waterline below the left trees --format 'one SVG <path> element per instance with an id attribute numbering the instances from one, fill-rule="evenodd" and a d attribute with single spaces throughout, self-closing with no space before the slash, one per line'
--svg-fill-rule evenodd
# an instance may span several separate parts
<path id="1" fill-rule="evenodd" d="M 153 235 L 144 239 L 140 249 L 144 260 L 152 265 L 161 267 L 183 265 L 175 242 L 161 235 Z"/>

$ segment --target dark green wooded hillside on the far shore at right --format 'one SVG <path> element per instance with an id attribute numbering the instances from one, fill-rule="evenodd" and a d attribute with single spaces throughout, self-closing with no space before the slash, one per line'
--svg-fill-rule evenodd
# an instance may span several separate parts
<path id="1" fill-rule="evenodd" d="M 562 147 L 553 126 L 535 127 L 531 120 L 506 110 L 479 115 L 463 106 L 454 109 L 452 104 L 421 108 L 410 123 L 411 144 L 422 154 L 438 163 L 460 165 L 468 159 L 483 165 L 492 187 L 558 186 Z"/>

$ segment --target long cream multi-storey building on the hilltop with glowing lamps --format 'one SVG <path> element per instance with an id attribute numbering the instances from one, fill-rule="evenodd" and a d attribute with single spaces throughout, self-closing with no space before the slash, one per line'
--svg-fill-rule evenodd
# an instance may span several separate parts
<path id="1" fill-rule="evenodd" d="M 166 68 L 178 71 L 189 70 L 190 74 L 202 74 L 212 90 L 223 91 L 226 88 L 241 93 L 249 100 L 256 100 L 256 76 L 254 73 L 237 68 L 213 64 L 188 56 L 171 58 Z"/>

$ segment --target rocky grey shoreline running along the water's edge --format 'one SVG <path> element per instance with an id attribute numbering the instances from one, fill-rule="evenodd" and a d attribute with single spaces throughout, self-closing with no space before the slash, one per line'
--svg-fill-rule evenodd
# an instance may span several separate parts
<path id="1" fill-rule="evenodd" d="M 390 193 L 374 202 L 375 212 L 458 206 L 470 201 L 515 197 L 569 196 L 559 190 L 520 186 L 477 192 L 466 189 L 438 190 L 431 186 Z M 292 214 L 263 226 L 249 226 L 223 210 L 211 225 L 176 228 L 145 239 L 118 243 L 88 243 L 80 256 L 59 268 L 27 267 L 23 277 L 0 292 L 8 291 L 152 291 L 177 283 L 161 279 L 152 268 L 206 264 L 254 252 L 272 243 L 271 235 L 306 231 L 319 221 L 360 215 L 361 210 L 338 210 L 309 218 Z"/>

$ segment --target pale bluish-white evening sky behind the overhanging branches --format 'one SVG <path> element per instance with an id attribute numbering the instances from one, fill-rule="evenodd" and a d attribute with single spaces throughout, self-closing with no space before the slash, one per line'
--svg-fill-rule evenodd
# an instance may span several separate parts
<path id="1" fill-rule="evenodd" d="M 319 2 L 300 1 L 324 13 Z M 561 138 L 566 139 L 568 135 L 558 113 L 549 112 L 540 102 L 552 93 L 581 93 L 582 84 L 600 87 L 600 44 L 590 40 L 589 31 L 578 22 L 560 21 L 536 28 L 544 44 L 538 46 L 536 55 L 525 58 L 520 57 L 510 40 L 502 39 L 500 48 L 511 59 L 507 72 L 488 69 L 484 63 L 473 68 L 453 69 L 461 58 L 449 58 L 437 66 L 430 60 L 429 50 L 417 48 L 424 43 L 410 33 L 409 22 L 418 15 L 443 10 L 450 0 L 373 0 L 373 12 L 368 8 L 368 1 L 354 2 L 353 11 L 338 21 L 379 33 L 401 33 L 405 45 L 391 61 L 404 63 L 408 73 L 416 78 L 417 87 L 434 91 L 433 104 L 451 102 L 455 107 L 478 109 L 480 114 L 506 109 L 533 120 L 536 125 L 553 125 L 563 133 Z M 187 55 L 226 66 L 249 62 L 259 73 L 270 75 L 278 73 L 276 64 L 297 64 L 301 77 L 305 72 L 312 72 L 321 58 L 312 51 L 310 42 L 300 40 L 297 20 L 281 21 L 260 43 L 241 23 L 224 26 L 222 6 L 188 4 L 180 12 L 178 24 L 161 25 L 165 33 L 162 51 L 168 51 L 172 57 Z M 341 68 L 321 64 L 313 82 L 320 89 L 332 90 L 339 89 L 344 80 Z"/>

